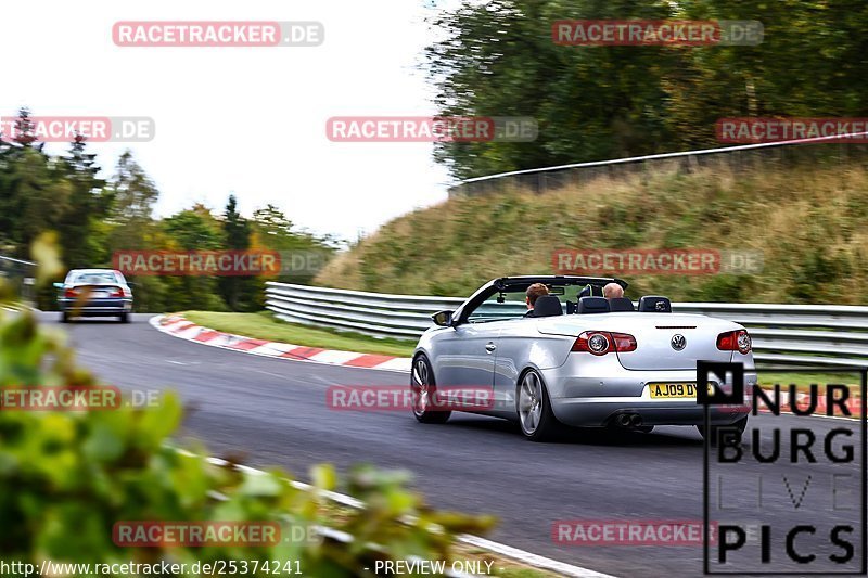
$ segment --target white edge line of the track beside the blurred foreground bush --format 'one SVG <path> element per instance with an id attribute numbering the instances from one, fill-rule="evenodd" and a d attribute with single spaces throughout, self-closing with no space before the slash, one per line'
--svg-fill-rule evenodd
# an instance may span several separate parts
<path id="1" fill-rule="evenodd" d="M 195 457 L 194 453 L 183 449 L 178 449 L 177 451 L 183 455 Z M 214 465 L 219 465 L 219 466 L 229 465 L 229 462 L 227 462 L 226 460 L 221 460 L 220 458 L 206 458 L 205 460 Z M 263 476 L 268 474 L 267 472 L 263 472 L 261 470 L 256 470 L 255 467 L 250 467 L 247 465 L 242 465 L 242 464 L 234 464 L 234 465 L 237 470 L 253 476 Z M 289 481 L 294 488 L 303 491 L 319 491 L 323 497 L 332 500 L 333 502 L 346 505 L 348 508 L 353 508 L 355 510 L 361 510 L 362 508 L 365 508 L 365 502 L 362 502 L 361 500 L 357 500 L 352 496 L 346 496 L 344 493 L 339 493 L 336 491 L 317 490 L 314 486 L 309 484 L 305 484 L 303 481 L 296 481 L 294 479 L 285 479 L 285 481 Z M 538 554 L 534 554 L 525 550 L 520 550 L 518 548 L 512 548 L 511 545 L 502 544 L 500 542 L 495 542 L 493 540 L 487 540 L 478 536 L 473 536 L 472 534 L 458 535 L 457 539 L 458 541 L 463 542 L 465 544 L 473 545 L 476 548 L 482 548 L 484 550 L 488 550 L 489 552 L 495 552 L 497 554 L 515 560 L 518 562 L 521 562 L 522 564 L 526 564 L 535 568 L 542 568 L 546 570 L 556 571 L 561 576 L 571 576 L 574 578 L 615 578 L 610 574 L 602 574 L 588 568 L 583 568 L 582 566 L 574 566 L 572 564 L 566 564 L 565 562 L 558 562 L 557 560 L 540 556 Z"/>

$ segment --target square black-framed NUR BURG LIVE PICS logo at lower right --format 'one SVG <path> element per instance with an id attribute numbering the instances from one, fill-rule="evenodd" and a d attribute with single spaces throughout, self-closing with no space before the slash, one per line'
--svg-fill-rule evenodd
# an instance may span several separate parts
<path id="1" fill-rule="evenodd" d="M 705 437 L 704 573 L 865 576 L 866 404 L 851 398 L 865 400 L 868 368 L 784 371 L 829 374 L 839 383 L 812 384 L 799 401 L 794 385 L 789 395 L 779 384 L 753 387 L 741 441 L 726 426 L 716 444 Z M 856 376 L 860 388 L 844 385 Z M 697 382 L 706 431 L 712 415 L 744 403 L 742 363 L 698 361 Z"/>

